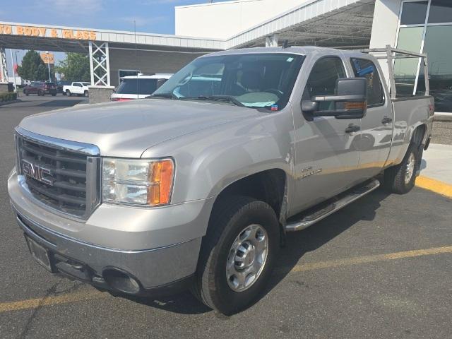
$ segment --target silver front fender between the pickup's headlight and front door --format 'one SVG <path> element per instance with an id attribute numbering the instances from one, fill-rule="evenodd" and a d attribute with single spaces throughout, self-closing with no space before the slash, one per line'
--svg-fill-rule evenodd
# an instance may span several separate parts
<path id="1" fill-rule="evenodd" d="M 142 157 L 174 157 L 172 203 L 210 198 L 266 169 L 283 169 L 292 178 L 291 126 L 290 112 L 263 114 L 172 139 Z"/>

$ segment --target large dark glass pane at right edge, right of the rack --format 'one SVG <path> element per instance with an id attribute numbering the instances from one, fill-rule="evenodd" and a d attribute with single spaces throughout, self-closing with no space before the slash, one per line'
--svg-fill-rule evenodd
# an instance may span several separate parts
<path id="1" fill-rule="evenodd" d="M 430 95 L 435 98 L 436 112 L 452 112 L 452 25 L 429 26 L 425 34 L 424 52 L 429 61 Z M 424 90 L 419 79 L 418 91 Z"/>

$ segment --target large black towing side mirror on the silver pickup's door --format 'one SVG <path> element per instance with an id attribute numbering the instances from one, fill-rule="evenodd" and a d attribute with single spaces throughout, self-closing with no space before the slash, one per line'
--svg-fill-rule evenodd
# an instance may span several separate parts
<path id="1" fill-rule="evenodd" d="M 312 117 L 335 117 L 336 119 L 360 119 L 367 110 L 367 79 L 341 78 L 336 81 L 336 94 L 311 97 L 302 100 L 302 111 Z M 323 109 L 322 102 L 328 102 Z"/>

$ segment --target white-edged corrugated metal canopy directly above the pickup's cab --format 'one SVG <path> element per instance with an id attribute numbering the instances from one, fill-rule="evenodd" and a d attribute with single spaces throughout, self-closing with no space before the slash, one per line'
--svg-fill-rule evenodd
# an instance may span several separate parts
<path id="1" fill-rule="evenodd" d="M 375 0 L 311 0 L 250 28 L 226 42 L 226 48 L 280 44 L 338 48 L 369 47 Z"/>

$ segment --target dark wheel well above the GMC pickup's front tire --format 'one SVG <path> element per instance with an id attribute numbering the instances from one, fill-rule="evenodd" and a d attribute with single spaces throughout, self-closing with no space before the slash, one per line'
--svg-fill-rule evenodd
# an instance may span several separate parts
<path id="1" fill-rule="evenodd" d="M 286 174 L 283 169 L 268 169 L 237 180 L 223 189 L 222 196 L 249 196 L 268 203 L 279 219 L 284 198 Z"/>

